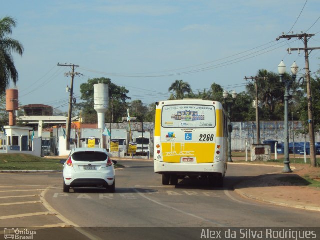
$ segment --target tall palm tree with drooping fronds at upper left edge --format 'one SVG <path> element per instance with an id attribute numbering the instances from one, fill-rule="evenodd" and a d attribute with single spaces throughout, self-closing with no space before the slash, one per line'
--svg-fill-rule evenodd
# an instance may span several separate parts
<path id="1" fill-rule="evenodd" d="M 0 95 L 5 92 L 11 79 L 14 83 L 18 81 L 18 72 L 14 66 L 12 52 L 22 56 L 22 44 L 7 35 L 12 33 L 12 27 L 16 26 L 16 21 L 6 16 L 0 19 Z"/>

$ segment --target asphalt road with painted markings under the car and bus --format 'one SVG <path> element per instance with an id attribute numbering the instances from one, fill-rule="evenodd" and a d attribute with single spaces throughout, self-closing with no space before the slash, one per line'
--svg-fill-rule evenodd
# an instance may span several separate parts
<path id="1" fill-rule="evenodd" d="M 199 239 L 201 228 L 317 227 L 320 220 L 317 212 L 250 201 L 233 191 L 238 182 L 278 168 L 229 164 L 223 188 L 200 179 L 163 186 L 152 161 L 119 161 L 126 168 L 116 170 L 115 193 L 98 188 L 63 193 L 61 173 L 0 174 L 0 227 L 94 227 L 63 228 L 72 236 L 79 235 L 74 239 L 104 239 L 105 235 L 116 239 L 123 234 L 131 239 L 157 239 L 154 235 L 163 239 L 163 234 Z M 59 234 L 64 235 L 57 232 L 54 237 Z"/>

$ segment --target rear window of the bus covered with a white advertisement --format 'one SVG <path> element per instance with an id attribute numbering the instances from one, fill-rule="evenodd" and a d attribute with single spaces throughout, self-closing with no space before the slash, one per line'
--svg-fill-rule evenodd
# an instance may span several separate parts
<path id="1" fill-rule="evenodd" d="M 166 105 L 162 107 L 162 127 L 213 128 L 215 107 L 210 105 Z"/>

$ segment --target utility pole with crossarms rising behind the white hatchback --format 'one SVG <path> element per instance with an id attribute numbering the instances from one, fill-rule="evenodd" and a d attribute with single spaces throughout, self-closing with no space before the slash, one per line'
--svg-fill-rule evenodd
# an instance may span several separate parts
<path id="1" fill-rule="evenodd" d="M 58 66 L 69 66 L 72 67 L 72 72 L 66 72 L 64 73 L 64 76 L 71 76 L 71 88 L 70 88 L 70 95 L 69 95 L 69 111 L 68 111 L 68 118 L 67 118 L 67 124 L 66 124 L 66 137 L 65 137 L 65 150 L 70 150 L 70 136 L 71 136 L 71 117 L 72 117 L 72 100 L 75 101 L 75 98 L 73 99 L 73 80 L 75 75 L 82 75 L 79 72 L 74 72 L 75 67 L 78 67 L 78 65 L 74 64 L 59 64 Z"/>

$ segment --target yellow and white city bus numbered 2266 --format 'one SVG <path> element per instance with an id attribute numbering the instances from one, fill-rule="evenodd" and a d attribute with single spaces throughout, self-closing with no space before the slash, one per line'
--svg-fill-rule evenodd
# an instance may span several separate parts
<path id="1" fill-rule="evenodd" d="M 218 101 L 156 102 L 154 172 L 162 184 L 204 177 L 221 187 L 227 168 L 227 115 Z"/>

